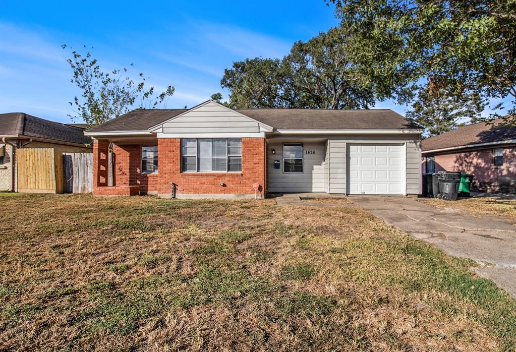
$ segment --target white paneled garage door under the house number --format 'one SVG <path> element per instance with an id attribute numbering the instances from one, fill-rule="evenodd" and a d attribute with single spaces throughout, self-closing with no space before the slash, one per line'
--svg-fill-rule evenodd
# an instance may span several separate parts
<path id="1" fill-rule="evenodd" d="M 405 156 L 402 144 L 350 144 L 348 194 L 404 195 Z"/>

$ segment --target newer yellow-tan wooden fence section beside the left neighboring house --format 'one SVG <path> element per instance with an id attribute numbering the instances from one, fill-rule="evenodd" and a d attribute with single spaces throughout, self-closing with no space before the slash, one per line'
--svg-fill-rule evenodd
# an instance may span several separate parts
<path id="1" fill-rule="evenodd" d="M 61 153 L 53 148 L 17 149 L 18 191 L 62 193 Z"/>

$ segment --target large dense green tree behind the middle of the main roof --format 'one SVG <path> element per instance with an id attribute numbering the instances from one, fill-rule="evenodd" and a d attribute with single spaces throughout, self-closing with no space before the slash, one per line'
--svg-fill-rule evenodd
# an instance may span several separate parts
<path id="1" fill-rule="evenodd" d="M 283 58 L 255 57 L 224 70 L 221 86 L 231 107 L 356 109 L 376 100 L 407 100 L 405 71 L 390 57 L 364 55 L 361 38 L 343 27 L 294 43 Z"/>

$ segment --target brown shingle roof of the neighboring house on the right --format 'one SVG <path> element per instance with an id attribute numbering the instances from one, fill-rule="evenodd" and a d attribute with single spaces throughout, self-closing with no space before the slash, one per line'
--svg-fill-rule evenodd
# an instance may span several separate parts
<path id="1" fill-rule="evenodd" d="M 516 139 L 516 127 L 501 126 L 500 119 L 493 124 L 485 122 L 459 127 L 438 136 L 424 139 L 422 151 L 470 146 Z"/>

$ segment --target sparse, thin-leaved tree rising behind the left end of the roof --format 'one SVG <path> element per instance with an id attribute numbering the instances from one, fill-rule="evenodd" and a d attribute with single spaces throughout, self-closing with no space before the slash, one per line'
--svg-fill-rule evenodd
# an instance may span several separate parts
<path id="1" fill-rule="evenodd" d="M 67 45 L 62 45 L 62 48 L 67 49 Z M 69 116 L 82 119 L 90 126 L 125 114 L 133 106 L 154 108 L 174 93 L 174 87 L 168 86 L 164 92 L 154 96 L 154 87 L 147 88 L 143 73 L 138 75 L 140 82 L 135 82 L 126 68 L 104 72 L 89 52 L 83 56 L 74 50 L 67 62 L 73 71 L 70 82 L 83 91 L 80 97 L 74 97 L 70 102 L 76 111 L 75 115 Z"/>

